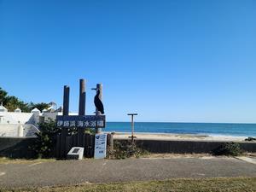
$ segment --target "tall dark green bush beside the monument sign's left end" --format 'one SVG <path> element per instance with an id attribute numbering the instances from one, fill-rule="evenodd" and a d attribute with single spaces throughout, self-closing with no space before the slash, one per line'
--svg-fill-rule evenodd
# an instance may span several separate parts
<path id="1" fill-rule="evenodd" d="M 61 129 L 55 125 L 55 121 L 51 121 L 40 124 L 39 130 L 40 132 L 37 133 L 38 138 L 32 146 L 36 152 L 36 158 L 53 157 L 56 136 L 61 132 Z"/>

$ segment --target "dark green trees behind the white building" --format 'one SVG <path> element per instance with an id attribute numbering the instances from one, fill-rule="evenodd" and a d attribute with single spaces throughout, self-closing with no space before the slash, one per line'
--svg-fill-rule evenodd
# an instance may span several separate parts
<path id="1" fill-rule="evenodd" d="M 26 103 L 21 101 L 16 96 L 9 96 L 6 90 L 0 87 L 0 102 L 3 102 L 3 106 L 7 108 L 10 112 L 15 111 L 16 108 L 20 108 L 23 112 L 31 112 L 33 108 L 38 108 L 42 111 L 44 108 L 49 108 L 49 104 L 40 103 Z"/>

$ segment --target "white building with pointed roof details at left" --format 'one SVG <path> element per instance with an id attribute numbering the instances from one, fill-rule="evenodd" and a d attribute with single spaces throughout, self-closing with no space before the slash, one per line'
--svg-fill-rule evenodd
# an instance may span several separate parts
<path id="1" fill-rule="evenodd" d="M 57 115 L 61 115 L 60 109 L 44 109 L 41 113 L 38 108 L 34 108 L 31 113 L 23 113 L 20 108 L 15 112 L 9 112 L 7 108 L 0 105 L 0 137 L 34 137 L 39 132 L 39 123 L 55 120 Z"/>

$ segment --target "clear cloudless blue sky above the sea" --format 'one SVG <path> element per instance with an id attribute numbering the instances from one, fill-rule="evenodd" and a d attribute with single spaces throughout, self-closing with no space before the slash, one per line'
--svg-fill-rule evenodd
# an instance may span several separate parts
<path id="1" fill-rule="evenodd" d="M 255 0 L 0 0 L 0 86 L 110 121 L 256 122 Z"/>

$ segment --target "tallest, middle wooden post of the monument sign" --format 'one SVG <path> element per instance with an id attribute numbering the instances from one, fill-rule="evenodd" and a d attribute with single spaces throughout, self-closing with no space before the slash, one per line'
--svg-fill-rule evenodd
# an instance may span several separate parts
<path id="1" fill-rule="evenodd" d="M 80 88 L 79 88 L 79 115 L 85 115 L 85 80 L 80 79 Z M 83 147 L 83 137 L 84 137 L 84 128 L 78 128 L 78 146 Z"/>

